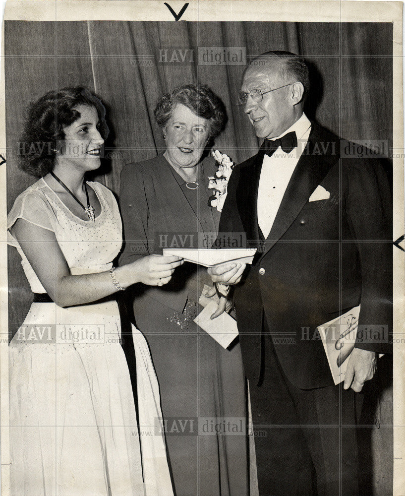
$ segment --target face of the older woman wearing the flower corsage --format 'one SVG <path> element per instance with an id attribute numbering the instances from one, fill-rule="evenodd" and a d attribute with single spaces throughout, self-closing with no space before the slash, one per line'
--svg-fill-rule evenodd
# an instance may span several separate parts
<path id="1" fill-rule="evenodd" d="M 195 167 L 207 145 L 209 121 L 178 103 L 163 131 L 167 147 L 164 155 L 169 163 L 175 169 Z"/>

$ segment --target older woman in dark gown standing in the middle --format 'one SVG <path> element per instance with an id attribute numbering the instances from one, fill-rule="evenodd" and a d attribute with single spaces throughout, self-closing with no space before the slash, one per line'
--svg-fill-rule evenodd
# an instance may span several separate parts
<path id="1" fill-rule="evenodd" d="M 121 173 L 120 265 L 164 247 L 210 247 L 218 231 L 220 214 L 208 205 L 217 168 L 208 152 L 225 125 L 221 100 L 206 86 L 181 86 L 160 98 L 155 118 L 165 152 Z M 206 269 L 184 263 L 162 288 L 132 286 L 131 307 L 158 375 L 176 495 L 245 496 L 246 438 L 233 425 L 246 417 L 239 345 L 224 349 L 193 322 L 210 281 Z"/>

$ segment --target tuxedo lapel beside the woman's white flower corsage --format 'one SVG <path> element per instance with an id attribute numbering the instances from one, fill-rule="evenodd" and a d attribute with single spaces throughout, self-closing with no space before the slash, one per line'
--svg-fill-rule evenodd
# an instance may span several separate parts
<path id="1" fill-rule="evenodd" d="M 239 182 L 236 189 L 236 204 L 240 220 L 246 232 L 247 240 L 257 242 L 260 239 L 257 222 L 257 193 L 264 151 L 252 157 L 251 164 L 240 168 Z M 250 243 L 252 245 L 252 243 Z"/>

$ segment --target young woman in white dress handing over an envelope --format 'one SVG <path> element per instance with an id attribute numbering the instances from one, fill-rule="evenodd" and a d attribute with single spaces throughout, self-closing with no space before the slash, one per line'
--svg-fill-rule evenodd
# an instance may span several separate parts
<path id="1" fill-rule="evenodd" d="M 114 268 L 118 205 L 86 181 L 100 167 L 104 116 L 90 91 L 64 88 L 35 102 L 25 126 L 28 149 L 48 146 L 22 156 L 40 179 L 7 217 L 34 293 L 9 349 L 15 496 L 173 496 L 164 439 L 153 431 L 162 414 L 148 346 L 132 327 L 136 408 L 114 295 L 141 281 L 167 283 L 181 261 L 150 256 Z"/>

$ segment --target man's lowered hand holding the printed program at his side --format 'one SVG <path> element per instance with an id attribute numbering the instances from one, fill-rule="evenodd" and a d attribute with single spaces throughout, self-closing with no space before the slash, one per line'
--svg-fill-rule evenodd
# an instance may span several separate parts
<path id="1" fill-rule="evenodd" d="M 344 389 L 351 389 L 359 393 L 366 380 L 373 378 L 377 367 L 377 357 L 373 351 L 353 348 L 347 363 Z"/>

